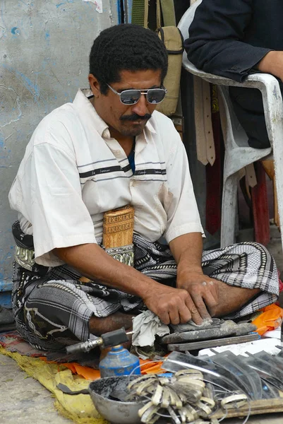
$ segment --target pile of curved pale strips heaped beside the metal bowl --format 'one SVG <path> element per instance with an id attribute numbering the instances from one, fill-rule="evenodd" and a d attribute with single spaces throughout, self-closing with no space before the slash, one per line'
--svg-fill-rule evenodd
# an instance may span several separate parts
<path id="1" fill-rule="evenodd" d="M 213 387 L 205 384 L 198 370 L 180 370 L 174 377 L 143 375 L 128 384 L 128 391 L 148 400 L 138 411 L 142 423 L 156 423 L 161 417 L 175 424 L 218 423 L 210 420 L 215 408 Z"/>

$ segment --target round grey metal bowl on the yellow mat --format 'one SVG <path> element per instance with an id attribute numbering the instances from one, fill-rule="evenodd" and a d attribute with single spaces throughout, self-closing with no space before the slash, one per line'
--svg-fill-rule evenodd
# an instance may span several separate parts
<path id="1" fill-rule="evenodd" d="M 125 391 L 128 383 L 137 376 L 105 377 L 90 383 L 88 390 L 95 408 L 103 418 L 113 424 L 138 424 L 138 410 L 143 402 L 121 402 L 109 399 L 114 390 Z"/>

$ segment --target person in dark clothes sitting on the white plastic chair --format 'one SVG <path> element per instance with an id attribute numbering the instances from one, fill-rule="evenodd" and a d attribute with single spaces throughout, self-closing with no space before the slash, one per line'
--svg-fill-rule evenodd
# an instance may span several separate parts
<path id="1" fill-rule="evenodd" d="M 185 40 L 188 59 L 198 69 L 242 82 L 262 71 L 279 78 L 283 91 L 283 2 L 203 0 Z M 251 147 L 267 148 L 259 90 L 229 87 L 239 122 Z"/>

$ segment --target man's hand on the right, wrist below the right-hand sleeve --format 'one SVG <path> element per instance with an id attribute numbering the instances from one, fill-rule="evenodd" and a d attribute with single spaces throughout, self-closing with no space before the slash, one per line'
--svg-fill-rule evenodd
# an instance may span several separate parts
<path id="1" fill-rule="evenodd" d="M 176 287 L 188 291 L 203 319 L 213 317 L 218 305 L 217 280 L 205 276 L 201 271 L 183 270 L 177 275 Z"/>

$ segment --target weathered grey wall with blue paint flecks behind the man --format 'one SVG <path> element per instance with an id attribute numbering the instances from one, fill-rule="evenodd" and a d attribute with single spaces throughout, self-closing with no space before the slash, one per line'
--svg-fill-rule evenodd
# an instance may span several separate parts
<path id="1" fill-rule="evenodd" d="M 87 86 L 95 37 L 117 23 L 117 4 L 101 0 L 0 1 L 0 304 L 8 305 L 16 219 L 8 190 L 32 132 L 55 107 Z"/>

